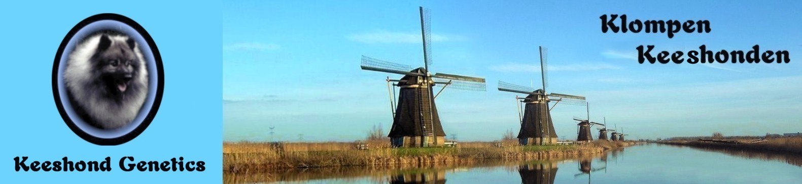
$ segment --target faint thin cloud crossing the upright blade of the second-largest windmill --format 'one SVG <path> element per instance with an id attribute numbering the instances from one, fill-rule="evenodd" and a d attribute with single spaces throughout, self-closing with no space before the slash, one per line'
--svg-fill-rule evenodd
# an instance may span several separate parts
<path id="1" fill-rule="evenodd" d="M 549 71 L 587 71 L 587 70 L 618 70 L 621 67 L 606 63 L 577 63 L 570 65 L 553 65 Z M 500 72 L 541 72 L 540 65 L 507 63 L 499 66 L 490 66 L 490 70 Z"/>

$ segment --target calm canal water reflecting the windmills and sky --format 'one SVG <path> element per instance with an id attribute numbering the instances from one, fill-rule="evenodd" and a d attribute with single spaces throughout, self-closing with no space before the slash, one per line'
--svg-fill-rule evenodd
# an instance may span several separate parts
<path id="1" fill-rule="evenodd" d="M 224 174 L 227 183 L 802 183 L 802 155 L 643 144 L 552 160 Z"/>

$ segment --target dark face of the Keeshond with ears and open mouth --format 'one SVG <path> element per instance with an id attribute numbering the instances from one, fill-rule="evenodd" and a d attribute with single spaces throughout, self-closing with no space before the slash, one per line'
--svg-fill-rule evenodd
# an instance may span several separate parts
<path id="1" fill-rule="evenodd" d="M 97 85 L 103 86 L 109 98 L 118 102 L 125 98 L 125 94 L 130 93 L 132 79 L 139 70 L 140 61 L 134 53 L 136 42 L 132 38 L 126 38 L 123 42 L 119 39 L 112 40 L 108 35 L 100 36 L 97 51 L 92 57 L 95 66 L 95 76 L 98 76 Z"/>

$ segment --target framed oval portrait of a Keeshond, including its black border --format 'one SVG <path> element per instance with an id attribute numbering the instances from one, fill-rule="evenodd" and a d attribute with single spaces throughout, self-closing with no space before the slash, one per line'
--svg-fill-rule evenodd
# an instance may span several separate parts
<path id="1" fill-rule="evenodd" d="M 53 65 L 53 96 L 80 138 L 119 145 L 144 131 L 159 109 L 164 71 L 156 43 L 119 14 L 83 19 L 64 37 Z"/>

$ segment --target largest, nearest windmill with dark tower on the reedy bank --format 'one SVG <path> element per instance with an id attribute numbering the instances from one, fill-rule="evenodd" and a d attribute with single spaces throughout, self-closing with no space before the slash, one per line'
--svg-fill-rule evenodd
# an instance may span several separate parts
<path id="1" fill-rule="evenodd" d="M 484 90 L 484 78 L 468 77 L 456 74 L 429 73 L 431 66 L 431 36 L 429 10 L 420 10 L 421 34 L 423 34 L 423 67 L 412 69 L 411 66 L 395 62 L 382 61 L 362 56 L 362 69 L 403 74 L 399 80 L 387 77 L 387 91 L 390 94 L 390 106 L 393 114 L 393 126 L 387 137 L 394 147 L 402 146 L 442 146 L 445 143 L 445 132 L 440 125 L 435 106 L 435 98 L 447 86 L 461 90 Z M 395 90 L 399 86 L 397 105 L 393 102 Z M 435 85 L 443 87 L 434 94 Z M 393 109 L 395 107 L 395 109 Z"/>

